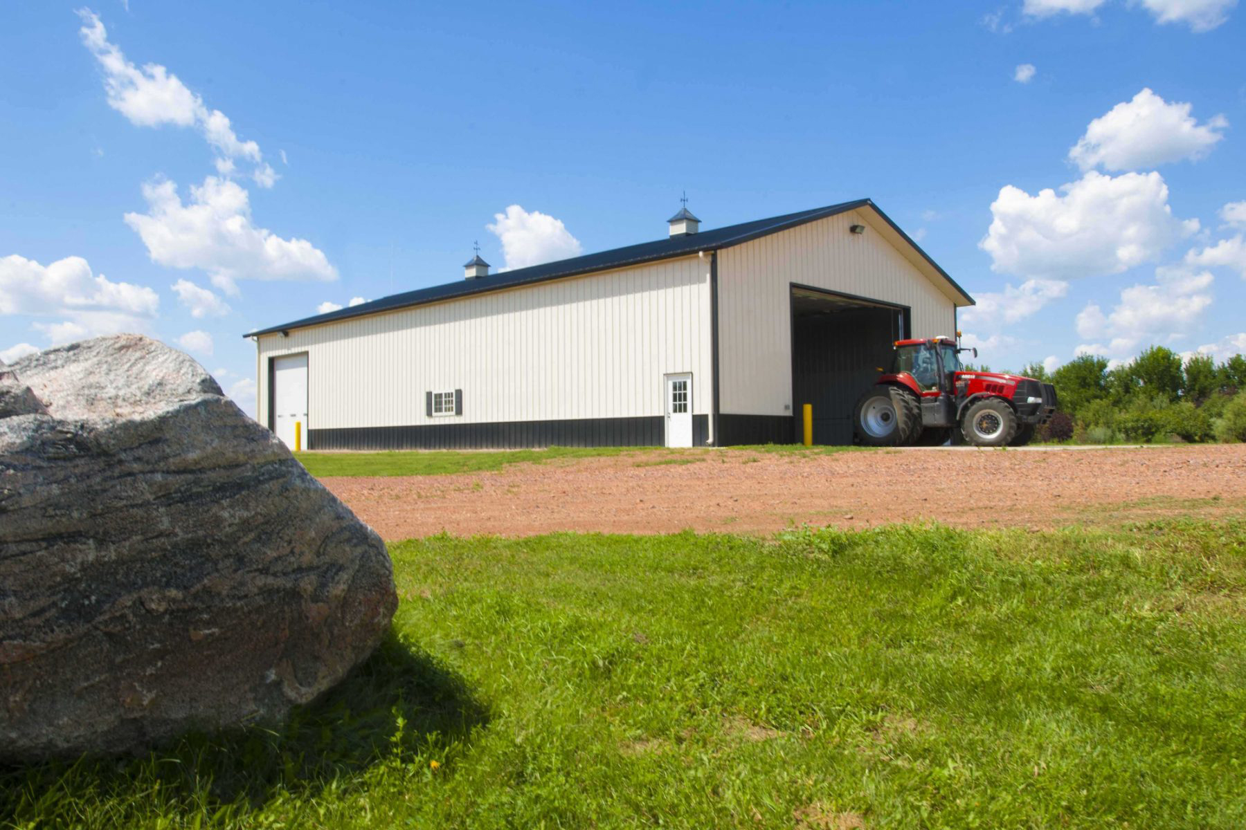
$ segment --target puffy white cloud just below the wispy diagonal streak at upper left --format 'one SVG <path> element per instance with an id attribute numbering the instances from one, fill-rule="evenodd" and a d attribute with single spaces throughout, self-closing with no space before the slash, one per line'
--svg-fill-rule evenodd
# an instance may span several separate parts
<path id="1" fill-rule="evenodd" d="M 209 175 L 182 202 L 173 182 L 143 185 L 148 213 L 127 213 L 152 261 L 202 269 L 212 284 L 237 294 L 238 280 L 335 280 L 336 269 L 305 239 L 282 239 L 252 223 L 247 190 Z"/>

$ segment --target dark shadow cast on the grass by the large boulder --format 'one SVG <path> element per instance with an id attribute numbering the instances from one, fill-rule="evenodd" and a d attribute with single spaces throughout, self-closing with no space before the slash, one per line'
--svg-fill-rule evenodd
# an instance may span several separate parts
<path id="1" fill-rule="evenodd" d="M 462 678 L 391 632 L 275 729 L 189 734 L 142 757 L 0 767 L 0 826 L 69 818 L 62 810 L 125 814 L 143 803 L 176 813 L 258 808 L 278 794 L 314 798 L 378 763 L 424 755 L 445 763 L 487 720 Z"/>

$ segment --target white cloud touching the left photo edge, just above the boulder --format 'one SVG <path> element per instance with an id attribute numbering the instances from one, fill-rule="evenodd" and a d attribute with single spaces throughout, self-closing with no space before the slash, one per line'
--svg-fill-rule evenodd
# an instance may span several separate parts
<path id="1" fill-rule="evenodd" d="M 159 310 L 147 286 L 96 275 L 81 256 L 49 265 L 17 255 L 0 258 L 0 315 L 65 317 L 35 322 L 54 346 L 120 331 L 142 331 Z"/>

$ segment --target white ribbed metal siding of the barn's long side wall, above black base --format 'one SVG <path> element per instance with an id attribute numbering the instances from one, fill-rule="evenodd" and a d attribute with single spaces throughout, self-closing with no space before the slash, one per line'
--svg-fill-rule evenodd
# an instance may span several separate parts
<path id="1" fill-rule="evenodd" d="M 308 352 L 316 429 L 662 416 L 664 380 L 694 376 L 710 407 L 709 258 L 685 256 L 294 329 L 268 358 Z M 464 413 L 429 418 L 425 392 L 462 389 Z"/>

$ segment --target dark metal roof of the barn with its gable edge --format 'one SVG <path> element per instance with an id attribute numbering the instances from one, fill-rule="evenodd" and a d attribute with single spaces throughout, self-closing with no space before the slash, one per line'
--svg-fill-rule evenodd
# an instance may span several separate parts
<path id="1" fill-rule="evenodd" d="M 392 311 L 396 309 L 407 309 L 430 302 L 441 302 L 444 300 L 456 300 L 473 294 L 485 294 L 501 289 L 532 285 L 533 282 L 558 280 L 568 276 L 577 276 L 579 274 L 591 274 L 593 271 L 604 271 L 627 265 L 637 265 L 639 263 L 672 259 L 674 256 L 687 256 L 688 254 L 695 254 L 703 250 L 708 251 L 720 248 L 730 248 L 733 245 L 758 239 L 759 236 L 768 236 L 770 234 L 779 233 L 780 230 L 795 228 L 796 225 L 816 221 L 819 219 L 826 219 L 827 217 L 834 217 L 836 214 L 866 207 L 877 213 L 905 239 L 905 241 L 912 245 L 913 249 L 921 254 L 922 258 L 930 263 L 931 266 L 934 268 L 934 270 L 937 270 L 961 296 L 963 296 L 968 302 L 973 302 L 973 299 L 964 292 L 964 289 L 957 285 L 956 280 L 948 276 L 947 271 L 939 268 L 938 264 L 934 263 L 934 260 L 932 260 L 930 255 L 917 245 L 917 243 L 910 239 L 908 234 L 901 230 L 900 226 L 887 217 L 887 214 L 880 210 L 873 202 L 870 199 L 856 199 L 854 202 L 841 202 L 840 204 L 832 204 L 825 208 L 814 208 L 812 210 L 789 213 L 782 217 L 755 219 L 738 225 L 728 225 L 726 228 L 703 230 L 697 234 L 683 234 L 679 236 L 670 236 L 668 239 L 659 239 L 652 243 L 640 243 L 639 245 L 616 248 L 613 250 L 599 251 L 597 254 L 586 254 L 584 256 L 576 256 L 574 259 L 562 259 L 556 263 L 545 263 L 543 265 L 520 268 L 513 271 L 490 274 L 488 276 L 481 276 L 475 280 L 456 280 L 445 285 L 434 285 L 426 289 L 404 291 L 402 294 L 394 294 L 388 297 L 381 297 L 380 300 L 373 300 L 371 302 L 364 302 L 356 306 L 340 309 L 338 311 L 330 311 L 329 314 L 318 314 L 312 317 L 303 317 L 302 320 L 294 320 L 279 326 L 269 326 L 268 329 L 248 331 L 243 336 L 254 337 L 257 335 L 270 335 L 278 331 L 289 331 L 290 329 L 303 329 L 325 322 L 336 322 L 338 320 L 363 317 L 379 311 Z"/>

